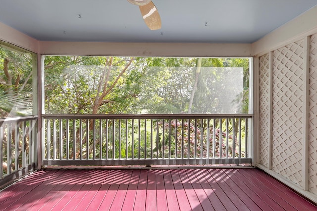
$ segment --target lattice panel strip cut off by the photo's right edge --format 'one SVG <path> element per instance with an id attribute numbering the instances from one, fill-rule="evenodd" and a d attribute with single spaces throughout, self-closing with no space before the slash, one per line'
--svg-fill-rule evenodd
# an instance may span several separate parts
<path id="1" fill-rule="evenodd" d="M 309 82 L 309 188 L 317 194 L 317 34 L 311 36 Z"/>

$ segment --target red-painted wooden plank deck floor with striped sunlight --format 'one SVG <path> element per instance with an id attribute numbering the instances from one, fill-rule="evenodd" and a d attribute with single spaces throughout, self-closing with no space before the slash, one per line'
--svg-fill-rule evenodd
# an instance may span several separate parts
<path id="1" fill-rule="evenodd" d="M 250 169 L 43 170 L 0 192 L 0 210 L 313 211 L 317 207 Z"/>

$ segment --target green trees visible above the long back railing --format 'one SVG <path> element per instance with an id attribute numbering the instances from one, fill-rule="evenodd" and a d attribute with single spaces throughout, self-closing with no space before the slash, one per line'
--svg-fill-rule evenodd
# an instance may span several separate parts
<path id="1" fill-rule="evenodd" d="M 46 113 L 187 113 L 196 66 L 197 58 L 185 57 L 47 56 Z M 223 83 L 230 67 L 243 68 L 244 92 Z M 249 59 L 203 58 L 191 113 L 226 113 L 232 105 L 241 108 L 232 113 L 248 113 L 248 80 Z M 236 98 L 228 102 L 219 92 Z"/>

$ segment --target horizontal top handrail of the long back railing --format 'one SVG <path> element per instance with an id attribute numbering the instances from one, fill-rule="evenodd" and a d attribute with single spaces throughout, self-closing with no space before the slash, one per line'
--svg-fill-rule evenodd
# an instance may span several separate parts
<path id="1" fill-rule="evenodd" d="M 214 119 L 252 118 L 253 114 L 43 114 L 44 119 Z"/>

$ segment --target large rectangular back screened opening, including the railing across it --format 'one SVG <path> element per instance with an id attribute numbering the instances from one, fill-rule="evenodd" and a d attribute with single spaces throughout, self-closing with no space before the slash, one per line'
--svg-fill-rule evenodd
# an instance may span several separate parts
<path id="1" fill-rule="evenodd" d="M 251 64 L 45 56 L 42 165 L 251 165 Z"/>

